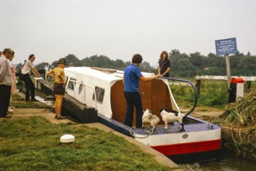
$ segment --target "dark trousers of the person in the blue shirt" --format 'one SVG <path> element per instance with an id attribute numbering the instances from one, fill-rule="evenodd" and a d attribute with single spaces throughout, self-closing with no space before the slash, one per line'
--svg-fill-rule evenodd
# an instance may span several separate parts
<path id="1" fill-rule="evenodd" d="M 133 126 L 133 110 L 136 108 L 136 127 L 142 127 L 143 107 L 139 92 L 124 92 L 126 98 L 126 118 L 124 124 Z"/>

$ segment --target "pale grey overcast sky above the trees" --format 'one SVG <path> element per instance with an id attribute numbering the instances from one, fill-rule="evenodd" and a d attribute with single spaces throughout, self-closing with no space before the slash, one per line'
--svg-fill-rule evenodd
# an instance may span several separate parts
<path id="1" fill-rule="evenodd" d="M 11 47 L 14 64 L 140 53 L 156 66 L 162 51 L 208 55 L 233 37 L 256 55 L 255 0 L 0 0 L 0 21 L 0 51 Z"/>

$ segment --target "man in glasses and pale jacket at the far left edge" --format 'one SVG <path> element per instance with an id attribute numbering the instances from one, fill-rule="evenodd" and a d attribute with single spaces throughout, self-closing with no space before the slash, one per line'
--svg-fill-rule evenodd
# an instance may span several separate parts
<path id="1" fill-rule="evenodd" d="M 12 58 L 13 51 L 5 48 L 0 57 L 0 117 L 7 116 L 12 89 L 12 70 L 9 65 L 9 58 Z"/>

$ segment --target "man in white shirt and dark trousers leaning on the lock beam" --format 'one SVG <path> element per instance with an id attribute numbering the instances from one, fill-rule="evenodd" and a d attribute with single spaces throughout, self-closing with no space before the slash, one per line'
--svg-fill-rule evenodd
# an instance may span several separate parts
<path id="1" fill-rule="evenodd" d="M 32 82 L 30 75 L 31 75 L 31 72 L 33 72 L 33 74 L 36 77 L 41 78 L 41 75 L 37 71 L 37 68 L 35 68 L 33 65 L 34 60 L 35 60 L 34 54 L 30 54 L 21 72 L 22 80 L 23 82 L 25 82 L 25 85 L 26 85 L 26 102 L 30 100 L 30 96 L 31 96 L 31 101 L 37 101 L 37 99 L 34 98 L 34 82 Z"/>

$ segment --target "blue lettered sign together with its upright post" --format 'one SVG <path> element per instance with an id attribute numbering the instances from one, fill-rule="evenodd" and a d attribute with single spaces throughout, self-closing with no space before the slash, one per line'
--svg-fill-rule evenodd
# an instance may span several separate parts
<path id="1" fill-rule="evenodd" d="M 226 76 L 227 86 L 230 87 L 231 72 L 230 72 L 230 61 L 229 54 L 235 54 L 237 52 L 236 38 L 215 40 L 216 54 L 225 55 L 226 58 Z"/>

